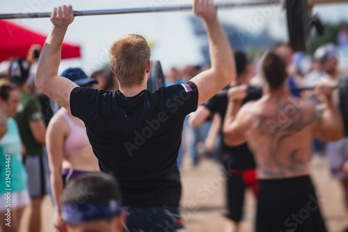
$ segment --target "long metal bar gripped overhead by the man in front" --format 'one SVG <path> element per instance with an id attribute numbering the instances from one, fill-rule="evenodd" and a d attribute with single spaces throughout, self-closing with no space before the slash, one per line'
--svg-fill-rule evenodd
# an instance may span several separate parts
<path id="1" fill-rule="evenodd" d="M 251 6 L 263 6 L 269 4 L 279 4 L 284 0 L 265 0 L 258 2 L 237 2 L 237 3 L 219 3 L 216 4 L 216 8 L 242 8 Z M 109 9 L 109 10 L 74 10 L 74 16 L 87 16 L 87 15 L 120 15 L 120 14 L 132 14 L 132 13 L 153 13 L 153 12 L 166 12 L 166 11 L 181 11 L 192 10 L 192 6 L 159 6 L 159 7 L 144 7 L 144 8 L 125 8 L 125 9 Z M 50 12 L 43 13 L 10 13 L 0 14 L 0 20 L 10 19 L 22 19 L 22 18 L 36 18 L 36 17 L 51 17 Z"/>

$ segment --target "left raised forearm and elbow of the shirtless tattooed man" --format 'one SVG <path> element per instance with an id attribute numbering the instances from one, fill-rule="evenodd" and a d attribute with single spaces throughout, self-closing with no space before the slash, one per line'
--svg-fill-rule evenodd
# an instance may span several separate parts
<path id="1" fill-rule="evenodd" d="M 248 107 L 242 100 L 246 97 L 247 86 L 232 87 L 228 91 L 228 107 L 225 121 L 223 121 L 223 142 L 228 146 L 238 146 L 246 142 L 246 114 L 243 112 Z M 240 109 L 240 110 L 239 110 Z"/>

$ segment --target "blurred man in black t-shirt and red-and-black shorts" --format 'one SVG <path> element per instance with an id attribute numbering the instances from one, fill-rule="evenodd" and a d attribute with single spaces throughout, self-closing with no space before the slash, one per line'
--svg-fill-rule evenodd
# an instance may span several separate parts
<path id="1" fill-rule="evenodd" d="M 246 54 L 236 51 L 234 56 L 237 77 L 226 86 L 226 88 L 234 88 L 241 84 L 248 84 L 253 77 L 253 66 L 248 63 Z M 248 98 L 243 99 L 242 104 L 250 100 L 258 100 L 259 98 L 261 98 L 261 93 L 249 95 Z M 203 105 L 200 105 L 198 109 L 189 116 L 189 124 L 193 127 L 199 127 L 203 125 L 212 114 L 218 114 L 223 121 L 227 106 L 227 96 L 214 96 Z M 221 127 L 221 125 L 219 125 L 219 127 Z M 223 138 L 222 130 L 221 138 Z M 258 181 L 255 176 L 255 160 L 246 143 L 231 147 L 226 146 L 222 139 L 219 145 L 218 157 L 223 165 L 224 171 L 226 171 L 226 201 L 228 208 L 226 217 L 232 222 L 233 231 L 237 232 L 240 231 L 243 218 L 244 192 L 246 192 L 246 188 L 251 187 L 253 193 L 257 196 Z"/>

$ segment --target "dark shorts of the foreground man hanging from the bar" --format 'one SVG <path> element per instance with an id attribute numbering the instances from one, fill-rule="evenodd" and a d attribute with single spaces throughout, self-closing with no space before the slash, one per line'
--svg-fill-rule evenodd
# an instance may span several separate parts
<path id="1" fill-rule="evenodd" d="M 125 231 L 128 229 L 130 232 L 175 232 L 184 229 L 184 221 L 175 207 L 125 207 L 125 209 L 127 210 Z"/>

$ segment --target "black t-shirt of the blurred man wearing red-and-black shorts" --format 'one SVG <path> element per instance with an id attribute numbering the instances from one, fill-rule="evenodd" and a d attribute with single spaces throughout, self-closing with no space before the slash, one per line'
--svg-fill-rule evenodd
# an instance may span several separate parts
<path id="1" fill-rule="evenodd" d="M 261 98 L 261 94 L 250 94 L 244 98 L 242 105 L 250 100 L 258 100 L 259 98 Z M 212 114 L 220 114 L 222 121 L 226 116 L 227 105 L 227 96 L 214 96 L 203 104 Z M 221 138 L 223 138 L 222 131 Z M 240 146 L 227 146 L 223 143 L 223 139 L 221 139 L 219 159 L 228 170 L 255 169 L 253 153 L 251 153 L 246 143 Z"/>

